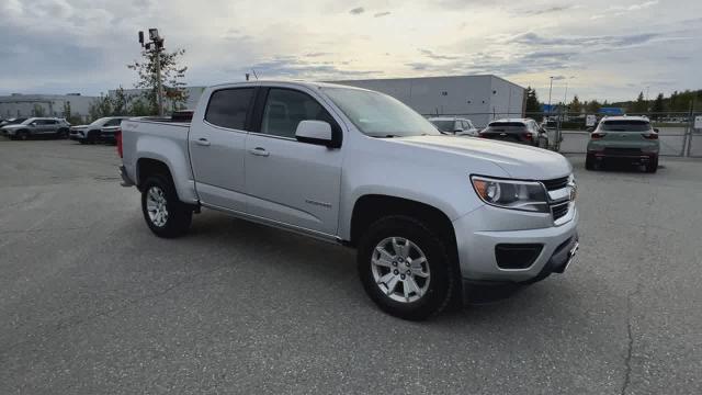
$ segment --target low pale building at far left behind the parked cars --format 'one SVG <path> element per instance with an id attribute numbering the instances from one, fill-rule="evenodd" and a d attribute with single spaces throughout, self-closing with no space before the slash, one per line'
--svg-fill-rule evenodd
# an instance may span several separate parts
<path id="1" fill-rule="evenodd" d="M 72 94 L 20 94 L 0 95 L 0 117 L 56 116 L 64 117 L 67 104 L 72 116 L 83 121 L 90 117 L 90 105 L 99 98 Z"/>

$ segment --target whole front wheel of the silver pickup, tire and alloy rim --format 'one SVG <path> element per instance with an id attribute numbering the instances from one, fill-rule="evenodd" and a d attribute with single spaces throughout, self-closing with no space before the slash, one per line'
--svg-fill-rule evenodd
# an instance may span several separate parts
<path id="1" fill-rule="evenodd" d="M 359 245 L 358 264 L 371 300 L 384 312 L 411 320 L 444 309 L 457 281 L 445 240 L 407 216 L 371 225 Z"/>

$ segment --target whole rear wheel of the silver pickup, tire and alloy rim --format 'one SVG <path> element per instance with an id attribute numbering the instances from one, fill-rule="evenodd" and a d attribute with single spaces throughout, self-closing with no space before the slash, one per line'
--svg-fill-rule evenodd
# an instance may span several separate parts
<path id="1" fill-rule="evenodd" d="M 149 229 L 165 238 L 186 234 L 193 217 L 192 210 L 178 200 L 173 183 L 161 176 L 151 176 L 144 182 L 141 212 Z"/>

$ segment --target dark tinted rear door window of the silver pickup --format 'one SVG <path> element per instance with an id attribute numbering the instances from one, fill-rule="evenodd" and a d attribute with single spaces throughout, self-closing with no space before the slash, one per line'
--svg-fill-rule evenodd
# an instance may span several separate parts
<path id="1" fill-rule="evenodd" d="M 223 89 L 210 97 L 205 121 L 213 125 L 244 131 L 253 98 L 253 88 Z"/>

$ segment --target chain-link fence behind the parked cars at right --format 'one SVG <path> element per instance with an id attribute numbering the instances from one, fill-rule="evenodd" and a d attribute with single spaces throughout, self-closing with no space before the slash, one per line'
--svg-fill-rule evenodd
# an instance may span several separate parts
<path id="1" fill-rule="evenodd" d="M 658 129 L 660 155 L 666 157 L 702 158 L 702 128 L 695 128 L 695 116 L 702 113 L 665 112 L 632 114 L 647 116 L 653 127 Z M 530 117 L 539 122 L 548 134 L 550 148 L 562 154 L 586 154 L 590 133 L 603 115 L 590 116 L 575 113 L 472 113 L 472 114 L 424 114 L 427 117 L 448 116 L 471 120 L 479 129 L 490 121 L 501 119 Z M 592 121 L 596 123 L 592 124 Z M 702 125 L 698 125 L 702 126 Z"/>

